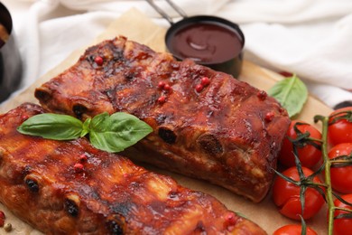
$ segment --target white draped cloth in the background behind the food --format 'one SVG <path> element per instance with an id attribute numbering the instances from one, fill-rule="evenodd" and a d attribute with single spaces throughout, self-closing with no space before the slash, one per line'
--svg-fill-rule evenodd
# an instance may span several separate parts
<path id="1" fill-rule="evenodd" d="M 24 61 L 22 88 L 85 46 L 131 7 L 167 22 L 142 0 L 5 0 Z M 155 0 L 175 20 L 179 15 Z M 333 108 L 352 102 L 351 0 L 174 0 L 188 15 L 214 14 L 240 25 L 245 59 L 292 71 Z"/>

